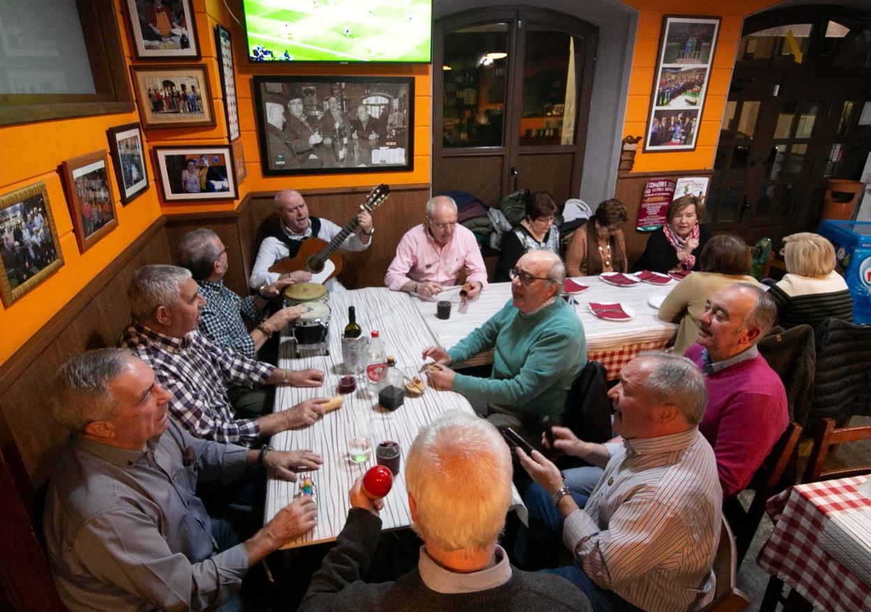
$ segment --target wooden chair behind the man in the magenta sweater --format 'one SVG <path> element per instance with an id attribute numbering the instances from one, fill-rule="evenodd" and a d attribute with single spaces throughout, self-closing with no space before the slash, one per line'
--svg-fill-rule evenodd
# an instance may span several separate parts
<path id="1" fill-rule="evenodd" d="M 780 439 L 774 444 L 766 460 L 756 470 L 750 486 L 756 489 L 750 507 L 745 511 L 738 498 L 733 496 L 723 501 L 723 516 L 734 525 L 735 542 L 738 546 L 737 562 L 740 566 L 753 542 L 753 535 L 765 516 L 765 502 L 769 497 L 780 492 L 780 480 L 790 461 L 801 436 L 801 426 L 797 422 L 790 422 L 787 429 L 780 434 Z M 793 473 L 795 468 L 791 470 Z"/>

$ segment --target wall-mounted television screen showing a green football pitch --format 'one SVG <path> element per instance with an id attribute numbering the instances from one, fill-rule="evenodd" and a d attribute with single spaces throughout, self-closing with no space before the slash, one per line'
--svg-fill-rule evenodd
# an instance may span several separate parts
<path id="1" fill-rule="evenodd" d="M 429 63 L 432 0 L 242 0 L 252 62 Z"/>

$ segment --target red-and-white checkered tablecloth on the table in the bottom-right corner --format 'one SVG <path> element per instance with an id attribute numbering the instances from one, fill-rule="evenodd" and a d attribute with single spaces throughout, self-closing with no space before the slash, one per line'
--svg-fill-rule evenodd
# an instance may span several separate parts
<path id="1" fill-rule="evenodd" d="M 819 609 L 833 612 L 871 610 L 871 586 L 820 547 L 828 517 L 871 509 L 856 488 L 868 476 L 801 484 L 774 496 L 766 505 L 774 530 L 757 561 Z"/>

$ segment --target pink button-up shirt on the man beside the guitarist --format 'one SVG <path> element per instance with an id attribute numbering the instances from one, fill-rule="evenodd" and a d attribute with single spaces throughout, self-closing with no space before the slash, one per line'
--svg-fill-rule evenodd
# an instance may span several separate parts
<path id="1" fill-rule="evenodd" d="M 461 269 L 466 270 L 467 283 L 475 281 L 481 283 L 482 289 L 487 289 L 487 269 L 471 230 L 457 225 L 450 242 L 442 247 L 421 223 L 402 236 L 384 276 L 384 284 L 392 291 L 402 290 L 402 285 L 409 281 L 431 281 L 450 287 L 456 285 Z"/>

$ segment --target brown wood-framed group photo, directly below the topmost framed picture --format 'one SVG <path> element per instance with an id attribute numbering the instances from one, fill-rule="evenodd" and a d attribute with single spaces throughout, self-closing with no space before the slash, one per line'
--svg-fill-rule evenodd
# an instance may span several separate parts
<path id="1" fill-rule="evenodd" d="M 215 124 L 206 64 L 131 66 L 130 71 L 146 130 Z"/>

